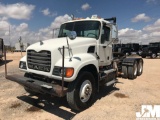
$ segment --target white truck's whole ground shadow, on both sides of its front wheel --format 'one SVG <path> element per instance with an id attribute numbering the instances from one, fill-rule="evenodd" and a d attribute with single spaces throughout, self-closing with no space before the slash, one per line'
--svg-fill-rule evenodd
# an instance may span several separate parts
<path id="1" fill-rule="evenodd" d="M 95 102 L 98 99 L 108 96 L 117 90 L 119 90 L 119 88 L 102 86 L 100 88 L 99 93 L 96 94 Z M 76 114 L 79 113 L 77 111 L 73 111 L 70 109 L 66 97 L 59 98 L 59 97 L 51 97 L 48 95 L 43 95 L 43 96 L 23 95 L 23 96 L 18 96 L 17 98 L 26 103 L 29 103 L 30 105 L 32 105 L 32 107 L 36 107 L 36 109 L 43 109 L 44 111 L 54 114 L 65 120 L 71 120 L 72 118 L 74 118 Z"/>

